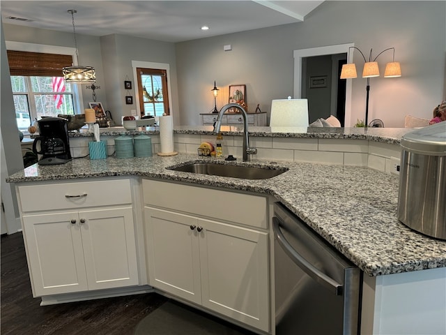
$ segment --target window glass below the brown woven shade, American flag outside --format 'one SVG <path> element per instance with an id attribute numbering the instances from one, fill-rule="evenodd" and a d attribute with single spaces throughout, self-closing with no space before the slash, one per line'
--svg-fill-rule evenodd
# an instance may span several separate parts
<path id="1" fill-rule="evenodd" d="M 17 126 L 27 131 L 31 120 L 75 114 L 72 85 L 63 77 L 11 75 Z"/>

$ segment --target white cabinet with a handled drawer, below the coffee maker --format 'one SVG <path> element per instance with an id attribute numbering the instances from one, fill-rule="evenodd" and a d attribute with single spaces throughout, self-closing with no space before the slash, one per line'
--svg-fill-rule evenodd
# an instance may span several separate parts
<path id="1" fill-rule="evenodd" d="M 105 184 L 114 193 L 104 181 L 18 187 L 35 297 L 138 285 L 130 182 Z"/>

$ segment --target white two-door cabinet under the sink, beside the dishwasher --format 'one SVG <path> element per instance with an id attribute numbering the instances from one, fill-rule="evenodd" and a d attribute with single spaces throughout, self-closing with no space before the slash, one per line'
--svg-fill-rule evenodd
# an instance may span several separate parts
<path id="1" fill-rule="evenodd" d="M 247 201 L 236 204 L 229 198 L 222 212 L 240 214 L 245 221 L 238 207 L 251 212 L 254 208 L 249 204 L 262 204 L 255 213 L 266 216 L 266 198 L 149 180 L 143 181 L 143 191 L 149 283 L 268 332 L 268 232 L 228 222 L 231 214 L 224 218 L 199 215 L 206 211 L 203 207 L 210 203 L 211 195 L 220 199 L 232 195 L 235 201 L 240 195 Z M 160 208 L 162 198 L 168 194 L 169 202 Z M 193 199 L 196 206 L 181 212 L 187 206 L 185 198 Z M 226 207 L 231 204 L 237 207 Z M 258 216 L 251 213 L 255 220 Z M 254 227 L 263 225 L 259 221 L 252 223 Z"/>

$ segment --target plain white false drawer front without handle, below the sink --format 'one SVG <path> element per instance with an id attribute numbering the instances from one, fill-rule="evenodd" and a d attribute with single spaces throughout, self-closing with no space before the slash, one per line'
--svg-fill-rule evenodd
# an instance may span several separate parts
<path id="1" fill-rule="evenodd" d="M 268 227 L 266 197 L 148 179 L 143 179 L 142 184 L 144 204 L 256 228 Z"/>

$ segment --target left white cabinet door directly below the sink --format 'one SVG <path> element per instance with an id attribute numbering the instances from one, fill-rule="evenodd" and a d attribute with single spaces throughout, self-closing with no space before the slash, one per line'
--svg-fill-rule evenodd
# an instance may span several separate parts
<path id="1" fill-rule="evenodd" d="M 197 218 L 151 207 L 144 211 L 150 285 L 201 304 Z"/>

